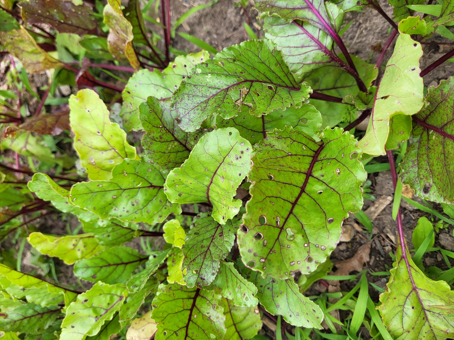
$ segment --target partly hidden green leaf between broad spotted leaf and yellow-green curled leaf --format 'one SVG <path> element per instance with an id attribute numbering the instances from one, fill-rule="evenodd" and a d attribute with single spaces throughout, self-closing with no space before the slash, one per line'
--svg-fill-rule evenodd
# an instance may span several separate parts
<path id="1" fill-rule="evenodd" d="M 118 246 L 139 237 L 142 231 L 136 230 L 135 223 L 122 223 L 117 219 L 84 222 L 84 232 L 92 233 L 104 246 Z"/>

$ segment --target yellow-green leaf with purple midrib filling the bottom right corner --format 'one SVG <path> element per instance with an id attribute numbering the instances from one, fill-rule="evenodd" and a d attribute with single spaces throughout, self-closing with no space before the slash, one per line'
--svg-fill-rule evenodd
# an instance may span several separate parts
<path id="1" fill-rule="evenodd" d="M 454 294 L 444 281 L 426 277 L 406 249 L 397 249 L 396 267 L 391 269 L 378 307 L 390 334 L 400 340 L 446 339 L 454 329 Z"/>

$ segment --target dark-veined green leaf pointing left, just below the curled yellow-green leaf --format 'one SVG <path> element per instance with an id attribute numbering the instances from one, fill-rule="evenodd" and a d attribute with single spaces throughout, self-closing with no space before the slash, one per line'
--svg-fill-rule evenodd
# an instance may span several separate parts
<path id="1" fill-rule="evenodd" d="M 140 255 L 133 248 L 107 248 L 98 255 L 76 262 L 74 274 L 91 282 L 126 283 L 131 274 L 147 260 L 148 256 Z"/>

